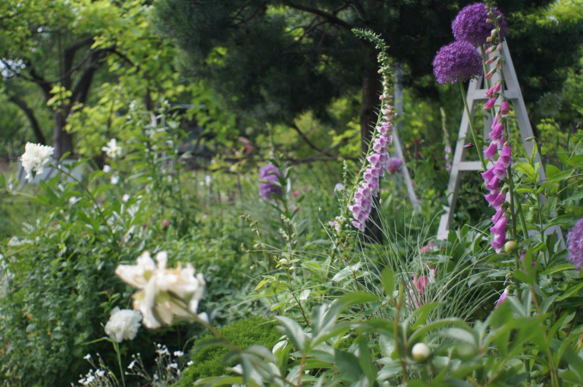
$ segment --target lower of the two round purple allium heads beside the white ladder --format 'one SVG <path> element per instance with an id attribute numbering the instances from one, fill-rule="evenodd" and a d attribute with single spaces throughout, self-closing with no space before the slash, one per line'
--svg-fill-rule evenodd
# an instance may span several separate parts
<path id="1" fill-rule="evenodd" d="M 437 82 L 444 85 L 458 79 L 477 78 L 484 73 L 482 56 L 468 42 L 454 41 L 444 45 L 433 59 L 433 73 Z"/>

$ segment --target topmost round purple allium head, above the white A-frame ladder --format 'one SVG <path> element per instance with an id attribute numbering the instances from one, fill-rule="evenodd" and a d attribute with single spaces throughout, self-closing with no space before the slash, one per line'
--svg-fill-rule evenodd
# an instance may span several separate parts
<path id="1" fill-rule="evenodd" d="M 502 13 L 497 8 L 494 8 L 494 15 L 500 16 Z M 486 43 L 486 39 L 494 28 L 492 24 L 486 23 L 486 19 L 488 19 L 486 4 L 474 3 L 465 6 L 451 23 L 451 29 L 454 31 L 456 40 L 466 41 L 476 47 Z M 498 25 L 504 39 L 508 33 L 508 24 L 506 24 L 504 15 L 498 20 Z"/>

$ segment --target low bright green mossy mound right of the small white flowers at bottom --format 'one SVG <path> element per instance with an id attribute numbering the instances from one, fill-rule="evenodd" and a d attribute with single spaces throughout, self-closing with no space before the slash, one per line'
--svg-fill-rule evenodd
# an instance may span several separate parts
<path id="1" fill-rule="evenodd" d="M 275 328 L 277 325 L 278 322 L 276 321 L 254 316 L 225 325 L 219 329 L 219 332 L 243 349 L 247 349 L 252 345 L 262 345 L 271 349 L 282 336 L 282 333 Z M 203 336 L 196 340 L 193 346 L 213 338 L 211 335 Z M 226 372 L 225 367 L 237 365 L 237 359 L 227 365 L 223 364 L 223 358 L 227 352 L 228 350 L 225 347 L 217 346 L 203 347 L 201 350 L 195 351 L 192 354 L 193 364 L 185 368 L 182 373 L 182 380 L 176 386 L 189 387 L 194 385 L 194 382 L 200 378 L 224 375 Z"/>

